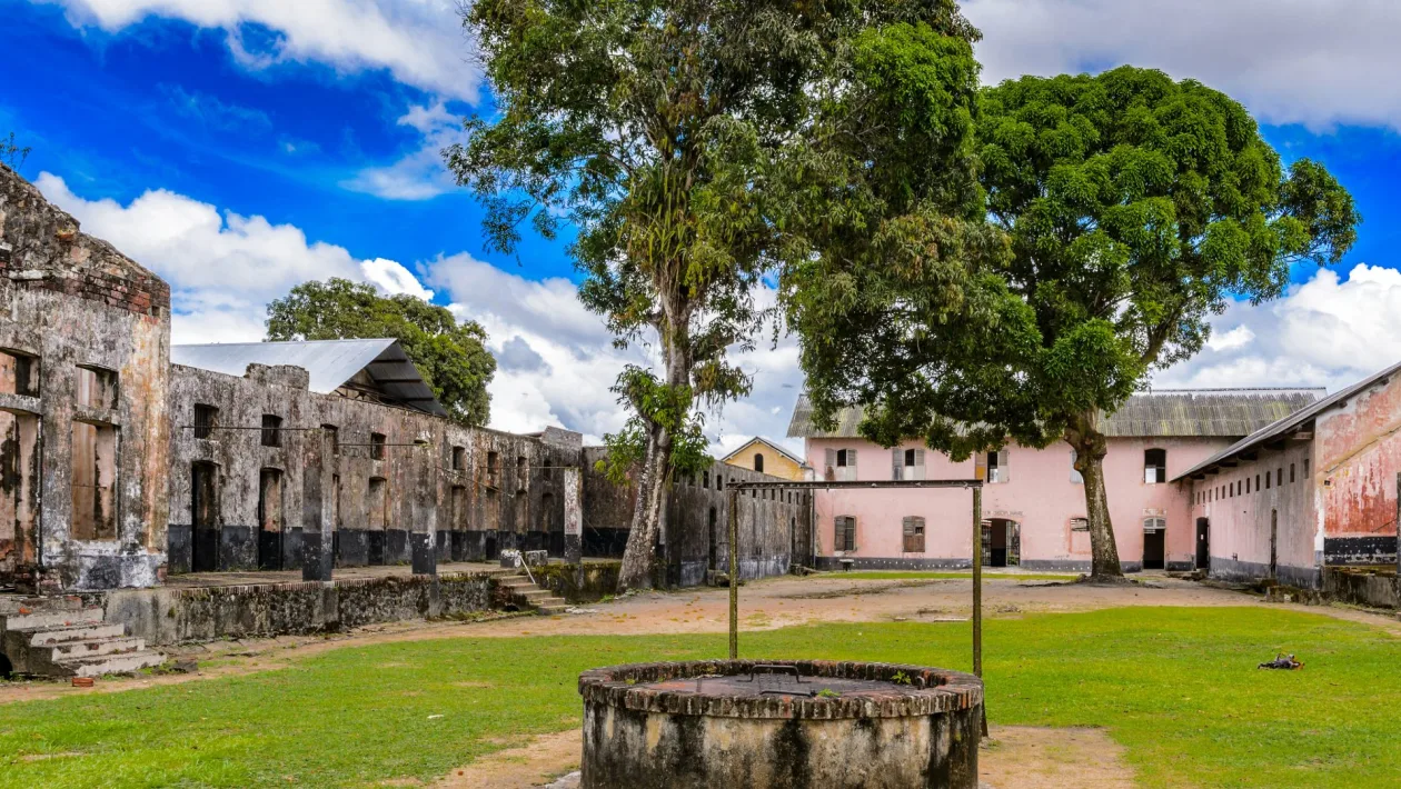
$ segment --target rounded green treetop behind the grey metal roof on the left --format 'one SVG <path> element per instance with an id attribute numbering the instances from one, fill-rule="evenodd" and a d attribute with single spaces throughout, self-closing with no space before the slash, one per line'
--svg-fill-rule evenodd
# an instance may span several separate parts
<path id="1" fill-rule="evenodd" d="M 305 282 L 268 306 L 269 341 L 377 338 L 399 341 L 454 420 L 488 422 L 496 360 L 476 321 L 458 322 L 446 307 L 345 279 Z"/>

